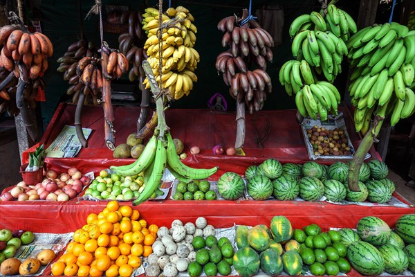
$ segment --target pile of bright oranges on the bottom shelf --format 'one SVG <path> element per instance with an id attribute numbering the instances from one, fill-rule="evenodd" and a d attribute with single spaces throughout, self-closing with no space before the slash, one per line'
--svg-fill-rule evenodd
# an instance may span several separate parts
<path id="1" fill-rule="evenodd" d="M 82 229 L 73 234 L 66 253 L 52 265 L 54 276 L 131 276 L 148 257 L 158 226 L 147 227 L 131 206 L 111 201 L 98 215 L 91 213 Z"/>

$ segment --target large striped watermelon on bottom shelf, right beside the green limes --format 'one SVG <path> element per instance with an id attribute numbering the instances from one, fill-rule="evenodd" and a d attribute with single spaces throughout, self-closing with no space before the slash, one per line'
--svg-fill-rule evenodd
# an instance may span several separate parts
<path id="1" fill-rule="evenodd" d="M 351 266 L 360 274 L 379 275 L 385 270 L 385 260 L 382 255 L 368 242 L 354 242 L 347 249 L 347 259 Z"/>

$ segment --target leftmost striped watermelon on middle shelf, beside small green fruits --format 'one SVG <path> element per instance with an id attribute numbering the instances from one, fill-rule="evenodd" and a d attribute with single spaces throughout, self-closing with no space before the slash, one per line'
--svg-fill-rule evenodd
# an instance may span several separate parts
<path id="1" fill-rule="evenodd" d="M 245 184 L 241 176 L 234 172 L 226 172 L 218 180 L 219 194 L 228 200 L 236 200 L 243 195 Z"/>

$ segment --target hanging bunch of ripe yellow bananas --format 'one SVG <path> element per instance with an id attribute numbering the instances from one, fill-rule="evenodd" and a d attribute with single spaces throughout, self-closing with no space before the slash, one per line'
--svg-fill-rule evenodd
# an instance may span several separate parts
<path id="1" fill-rule="evenodd" d="M 169 8 L 166 14 L 162 15 L 162 20 L 167 26 L 160 29 L 158 10 L 145 10 L 145 14 L 142 15 L 142 28 L 146 31 L 148 39 L 144 49 L 159 87 L 167 89 L 170 98 L 178 100 L 184 95 L 188 96 L 193 89 L 193 82 L 197 81 L 194 74 L 200 61 L 199 53 L 194 49 L 197 28 L 192 23 L 194 17 L 183 6 Z M 159 42 L 158 30 L 163 33 L 163 42 Z M 160 55 L 162 64 L 159 62 Z M 143 84 L 146 84 L 147 89 L 150 87 L 147 78 Z"/>

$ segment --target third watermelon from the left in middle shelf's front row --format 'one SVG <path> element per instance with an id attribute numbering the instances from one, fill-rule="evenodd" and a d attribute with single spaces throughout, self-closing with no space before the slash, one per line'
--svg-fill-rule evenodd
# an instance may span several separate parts
<path id="1" fill-rule="evenodd" d="M 290 175 L 283 174 L 273 180 L 273 195 L 278 200 L 290 201 L 299 195 L 299 184 L 297 179 Z"/>

